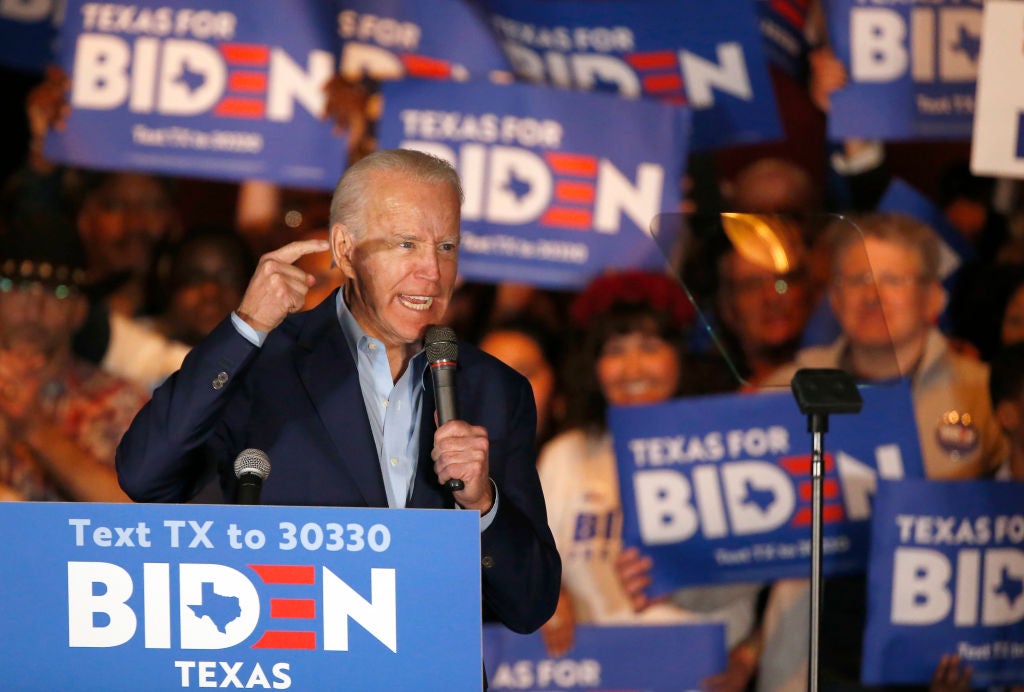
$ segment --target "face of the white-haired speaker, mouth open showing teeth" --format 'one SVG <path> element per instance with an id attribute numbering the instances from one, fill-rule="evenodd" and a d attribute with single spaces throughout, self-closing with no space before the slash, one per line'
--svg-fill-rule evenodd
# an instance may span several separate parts
<path id="1" fill-rule="evenodd" d="M 333 236 L 350 280 L 352 315 L 387 346 L 409 345 L 439 323 L 455 289 L 459 198 L 451 186 L 406 174 L 372 174 L 365 232 L 341 224 Z"/>

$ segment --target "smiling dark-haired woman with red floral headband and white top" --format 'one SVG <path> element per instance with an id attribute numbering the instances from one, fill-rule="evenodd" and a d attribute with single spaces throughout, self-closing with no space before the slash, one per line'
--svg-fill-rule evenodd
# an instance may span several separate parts
<path id="1" fill-rule="evenodd" d="M 686 393 L 683 343 L 693 308 L 674 279 L 630 271 L 592 282 L 570 316 L 579 338 L 566 392 L 567 429 L 544 446 L 538 463 L 562 558 L 562 594 L 542 628 L 545 644 L 553 655 L 565 653 L 575 623 L 720 621 L 731 646 L 753 626 L 756 588 L 701 590 L 721 597 L 723 605 L 710 612 L 663 602 L 637 613 L 614 566 L 622 550 L 622 503 L 607 407 Z"/>

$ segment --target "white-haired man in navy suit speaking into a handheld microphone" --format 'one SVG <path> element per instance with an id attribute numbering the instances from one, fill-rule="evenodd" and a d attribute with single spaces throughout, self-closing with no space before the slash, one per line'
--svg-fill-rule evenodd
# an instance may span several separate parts
<path id="1" fill-rule="evenodd" d="M 465 420 L 435 430 L 423 338 L 454 290 L 461 204 L 458 174 L 434 157 L 392 149 L 350 167 L 330 241 L 261 257 L 239 308 L 139 412 L 117 451 L 124 490 L 185 502 L 215 466 L 230 502 L 232 463 L 252 447 L 273 465 L 265 504 L 476 510 L 484 615 L 515 632 L 540 628 L 561 565 L 535 468 L 529 384 L 460 344 Z M 313 278 L 294 262 L 328 250 L 344 285 L 299 312 Z M 449 490 L 450 479 L 464 487 Z"/>

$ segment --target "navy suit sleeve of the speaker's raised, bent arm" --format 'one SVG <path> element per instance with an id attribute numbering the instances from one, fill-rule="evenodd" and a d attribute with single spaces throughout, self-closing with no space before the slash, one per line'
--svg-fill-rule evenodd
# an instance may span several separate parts
<path id="1" fill-rule="evenodd" d="M 179 503 L 201 489 L 215 450 L 230 448 L 216 443 L 226 435 L 220 424 L 257 353 L 225 319 L 157 388 L 118 445 L 118 480 L 129 498 Z"/>

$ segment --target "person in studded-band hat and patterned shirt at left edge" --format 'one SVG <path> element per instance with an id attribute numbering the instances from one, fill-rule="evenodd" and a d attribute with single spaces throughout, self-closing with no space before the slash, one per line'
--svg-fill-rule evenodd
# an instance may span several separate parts
<path id="1" fill-rule="evenodd" d="M 0 499 L 128 502 L 114 449 L 147 397 L 74 354 L 83 254 L 46 230 L 0 234 Z"/>

